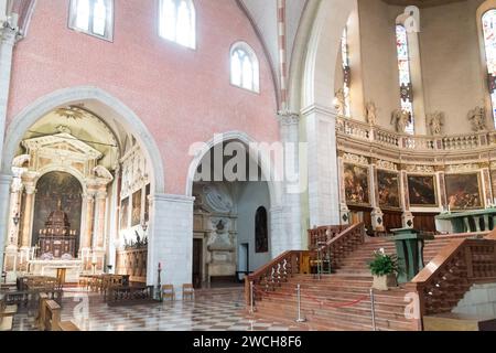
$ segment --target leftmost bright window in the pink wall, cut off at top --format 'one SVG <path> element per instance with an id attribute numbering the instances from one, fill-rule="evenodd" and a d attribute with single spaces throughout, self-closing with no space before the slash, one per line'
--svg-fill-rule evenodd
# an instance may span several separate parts
<path id="1" fill-rule="evenodd" d="M 69 28 L 111 41 L 114 0 L 72 0 Z"/>

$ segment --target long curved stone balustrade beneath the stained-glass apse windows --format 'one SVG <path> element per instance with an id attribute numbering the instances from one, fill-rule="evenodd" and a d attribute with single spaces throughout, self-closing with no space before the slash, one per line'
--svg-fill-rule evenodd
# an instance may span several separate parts
<path id="1" fill-rule="evenodd" d="M 496 146 L 496 131 L 442 137 L 410 136 L 342 117 L 337 118 L 336 132 L 338 136 L 411 151 L 461 151 Z"/>

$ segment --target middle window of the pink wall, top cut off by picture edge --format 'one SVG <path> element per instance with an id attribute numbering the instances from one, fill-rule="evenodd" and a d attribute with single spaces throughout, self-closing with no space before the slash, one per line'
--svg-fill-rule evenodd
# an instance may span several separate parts
<path id="1" fill-rule="evenodd" d="M 192 0 L 160 0 L 159 35 L 186 47 L 196 47 L 196 13 Z"/>

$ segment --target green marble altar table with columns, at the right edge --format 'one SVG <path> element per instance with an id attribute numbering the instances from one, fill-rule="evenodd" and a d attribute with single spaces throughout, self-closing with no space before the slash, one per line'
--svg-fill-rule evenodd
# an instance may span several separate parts
<path id="1" fill-rule="evenodd" d="M 450 234 L 490 232 L 496 226 L 496 208 L 443 213 L 435 224 L 439 232 Z"/>

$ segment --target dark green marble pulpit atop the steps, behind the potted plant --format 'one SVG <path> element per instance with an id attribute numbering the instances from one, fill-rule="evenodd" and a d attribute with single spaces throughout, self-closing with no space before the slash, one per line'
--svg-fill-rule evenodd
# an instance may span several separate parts
<path id="1" fill-rule="evenodd" d="M 425 240 L 434 238 L 411 228 L 391 229 L 395 236 L 390 237 L 396 243 L 396 254 L 398 255 L 398 282 L 406 284 L 416 277 L 424 267 L 423 247 Z"/>

